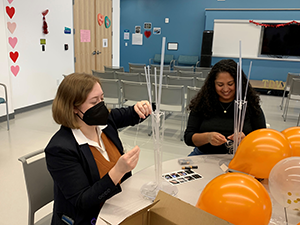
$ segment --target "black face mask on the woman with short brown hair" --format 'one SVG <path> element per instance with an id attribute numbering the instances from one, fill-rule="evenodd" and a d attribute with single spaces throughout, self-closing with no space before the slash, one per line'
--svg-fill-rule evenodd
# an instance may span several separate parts
<path id="1" fill-rule="evenodd" d="M 81 112 L 81 110 L 79 109 Z M 106 125 L 107 124 L 107 118 L 109 115 L 108 109 L 106 108 L 104 102 L 99 102 L 97 105 L 94 105 L 93 107 L 89 108 L 85 113 L 81 112 L 83 114 L 83 122 L 85 122 L 87 125 Z M 80 118 L 80 116 L 77 114 L 77 116 Z M 81 118 L 80 118 L 81 119 Z"/>

